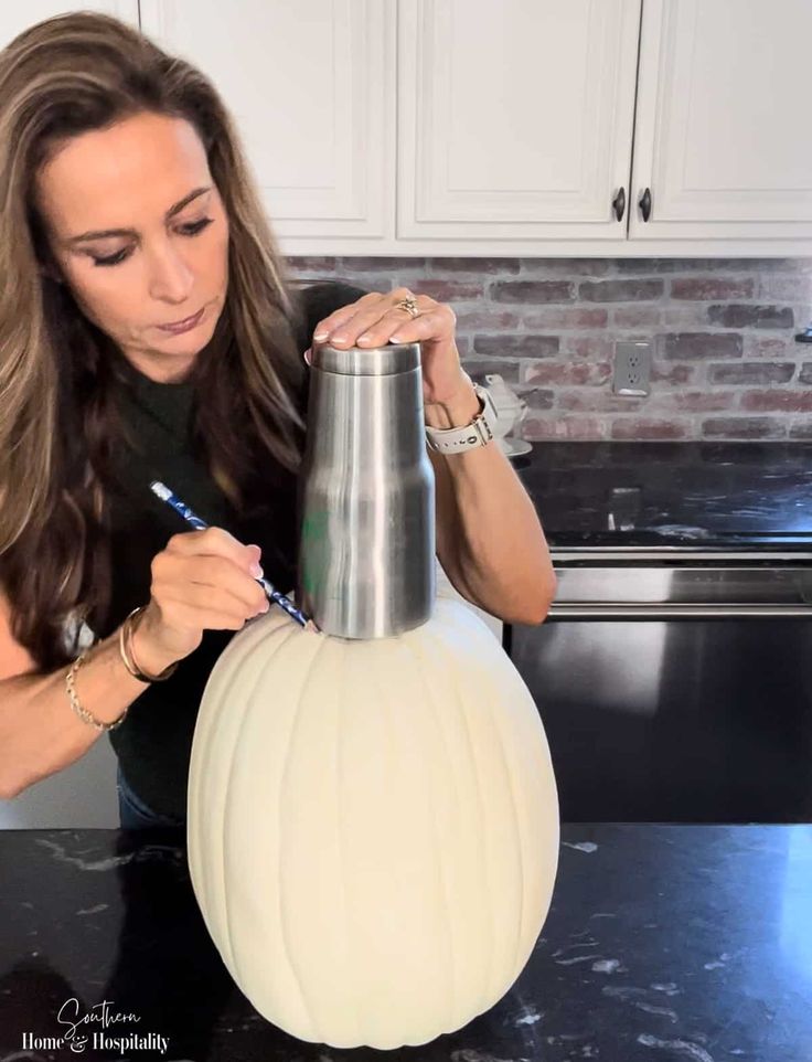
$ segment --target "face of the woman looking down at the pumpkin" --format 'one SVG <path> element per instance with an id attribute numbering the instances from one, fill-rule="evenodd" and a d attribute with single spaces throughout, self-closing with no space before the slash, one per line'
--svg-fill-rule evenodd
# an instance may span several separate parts
<path id="1" fill-rule="evenodd" d="M 193 126 L 141 114 L 74 137 L 38 174 L 36 200 L 61 278 L 86 317 L 152 380 L 182 380 L 214 333 L 228 286 L 228 221 Z M 128 231 L 85 235 L 108 230 Z M 201 308 L 190 331 L 161 330 Z"/>

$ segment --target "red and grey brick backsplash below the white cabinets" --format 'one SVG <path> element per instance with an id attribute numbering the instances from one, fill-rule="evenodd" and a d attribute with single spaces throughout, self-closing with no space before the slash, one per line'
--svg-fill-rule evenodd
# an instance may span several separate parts
<path id="1" fill-rule="evenodd" d="M 812 258 L 291 257 L 300 279 L 448 302 L 474 380 L 527 403 L 526 439 L 812 438 Z M 611 390 L 616 340 L 652 340 L 651 394 Z"/>

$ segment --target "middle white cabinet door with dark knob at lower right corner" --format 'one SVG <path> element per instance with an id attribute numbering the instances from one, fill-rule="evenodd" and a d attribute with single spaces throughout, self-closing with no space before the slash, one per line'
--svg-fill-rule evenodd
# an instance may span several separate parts
<path id="1" fill-rule="evenodd" d="M 622 236 L 639 18 L 639 0 L 403 0 L 398 236 Z"/>

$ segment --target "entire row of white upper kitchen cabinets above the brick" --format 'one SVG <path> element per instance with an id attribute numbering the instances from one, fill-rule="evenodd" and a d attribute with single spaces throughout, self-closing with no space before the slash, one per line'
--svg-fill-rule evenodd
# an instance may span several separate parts
<path id="1" fill-rule="evenodd" d="M 212 78 L 287 255 L 812 255 L 812 0 L 86 7 Z"/>

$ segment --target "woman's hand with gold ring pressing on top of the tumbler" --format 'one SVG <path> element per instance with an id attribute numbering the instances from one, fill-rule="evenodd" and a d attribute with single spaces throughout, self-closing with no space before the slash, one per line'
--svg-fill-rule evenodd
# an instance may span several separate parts
<path id="1" fill-rule="evenodd" d="M 396 306 L 402 299 L 415 300 L 417 317 Z M 370 291 L 320 321 L 313 332 L 313 347 L 329 343 L 348 349 L 419 342 L 424 405 L 447 404 L 472 393 L 470 379 L 460 364 L 456 325 L 451 307 L 428 295 L 413 295 L 408 288 L 395 288 L 386 295 Z"/>

